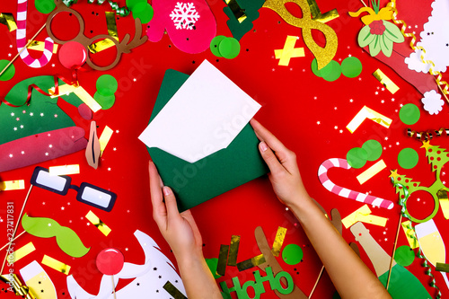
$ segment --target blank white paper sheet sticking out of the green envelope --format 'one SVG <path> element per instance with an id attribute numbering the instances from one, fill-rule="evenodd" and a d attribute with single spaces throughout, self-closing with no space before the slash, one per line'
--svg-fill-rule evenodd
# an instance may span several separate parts
<path id="1" fill-rule="evenodd" d="M 205 60 L 139 136 L 189 163 L 231 144 L 260 104 Z"/>

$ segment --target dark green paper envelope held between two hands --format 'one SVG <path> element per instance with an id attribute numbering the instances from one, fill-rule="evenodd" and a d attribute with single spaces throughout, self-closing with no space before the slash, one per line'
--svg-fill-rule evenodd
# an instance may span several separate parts
<path id="1" fill-rule="evenodd" d="M 188 78 L 189 75 L 172 69 L 165 72 L 150 123 Z M 269 172 L 258 145 L 259 139 L 247 124 L 225 149 L 196 163 L 189 163 L 156 147 L 148 148 L 148 152 L 163 184 L 171 187 L 176 195 L 182 212 Z"/>

